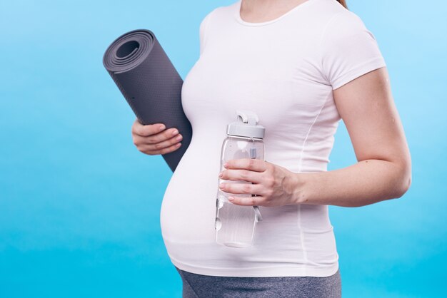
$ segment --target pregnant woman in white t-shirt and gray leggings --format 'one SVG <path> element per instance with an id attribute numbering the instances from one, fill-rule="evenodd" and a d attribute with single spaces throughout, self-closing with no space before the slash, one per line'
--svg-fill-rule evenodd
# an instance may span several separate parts
<path id="1" fill-rule="evenodd" d="M 411 158 L 386 63 L 371 31 L 336 0 L 238 0 L 200 25 L 200 56 L 182 88 L 193 137 L 161 205 L 166 250 L 184 297 L 340 297 L 328 205 L 401 197 Z M 265 161 L 230 160 L 221 143 L 236 110 L 266 128 Z M 343 119 L 358 162 L 327 170 Z M 132 128 L 141 152 L 179 148 L 161 123 Z M 223 180 L 253 184 L 218 185 Z M 217 187 L 260 206 L 253 246 L 216 243 Z M 256 197 L 238 197 L 238 194 Z"/>

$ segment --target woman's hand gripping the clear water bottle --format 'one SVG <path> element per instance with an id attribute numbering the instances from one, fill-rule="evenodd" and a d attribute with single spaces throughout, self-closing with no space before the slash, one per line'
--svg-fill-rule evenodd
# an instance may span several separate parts
<path id="1" fill-rule="evenodd" d="M 240 158 L 228 160 L 227 170 L 219 173 L 223 180 L 245 180 L 254 184 L 221 183 L 219 188 L 231 194 L 252 194 L 252 197 L 228 197 L 244 206 L 282 206 L 294 204 L 300 181 L 298 175 L 264 160 Z"/>

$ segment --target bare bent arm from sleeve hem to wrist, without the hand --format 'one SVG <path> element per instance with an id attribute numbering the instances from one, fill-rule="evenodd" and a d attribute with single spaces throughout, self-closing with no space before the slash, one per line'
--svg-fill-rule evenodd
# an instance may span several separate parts
<path id="1" fill-rule="evenodd" d="M 337 88 L 333 97 L 358 163 L 295 173 L 291 203 L 358 207 L 401 197 L 411 185 L 411 156 L 386 67 Z"/>

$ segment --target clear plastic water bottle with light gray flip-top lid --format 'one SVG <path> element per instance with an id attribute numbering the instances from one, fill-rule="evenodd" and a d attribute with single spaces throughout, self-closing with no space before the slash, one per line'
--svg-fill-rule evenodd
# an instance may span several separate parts
<path id="1" fill-rule="evenodd" d="M 265 128 L 258 125 L 258 116 L 253 111 L 236 111 L 236 122 L 226 127 L 226 138 L 221 149 L 221 171 L 224 163 L 239 158 L 264 160 L 263 136 Z M 220 183 L 248 183 L 248 181 L 223 180 Z M 231 194 L 217 190 L 216 199 L 216 242 L 228 247 L 249 247 L 253 245 L 256 222 L 262 220 L 258 206 L 233 204 L 228 196 L 251 197 L 251 194 Z"/>

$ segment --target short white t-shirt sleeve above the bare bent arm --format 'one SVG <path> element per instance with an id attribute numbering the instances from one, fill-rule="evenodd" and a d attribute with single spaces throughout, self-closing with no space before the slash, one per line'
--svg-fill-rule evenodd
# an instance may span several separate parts
<path id="1" fill-rule="evenodd" d="M 352 11 L 331 19 L 321 39 L 323 76 L 333 90 L 386 66 L 375 36 Z"/>

